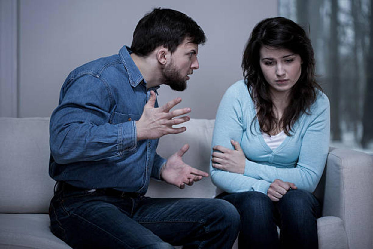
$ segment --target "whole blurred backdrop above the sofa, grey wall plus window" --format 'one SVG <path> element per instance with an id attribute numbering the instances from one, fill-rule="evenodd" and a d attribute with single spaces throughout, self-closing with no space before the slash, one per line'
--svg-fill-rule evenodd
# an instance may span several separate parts
<path id="1" fill-rule="evenodd" d="M 0 0 L 0 116 L 50 116 L 70 71 L 131 45 L 154 7 L 177 9 L 203 28 L 200 69 L 184 92 L 159 90 L 160 105 L 182 97 L 192 118 L 214 119 L 225 90 L 242 79 L 254 25 L 285 16 L 310 35 L 318 82 L 331 104 L 332 146 L 373 153 L 372 0 Z M 1 128 L 1 127 L 0 127 Z"/>

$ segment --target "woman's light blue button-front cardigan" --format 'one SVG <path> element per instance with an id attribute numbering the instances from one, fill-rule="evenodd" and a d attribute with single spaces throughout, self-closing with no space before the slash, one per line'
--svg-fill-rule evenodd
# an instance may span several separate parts
<path id="1" fill-rule="evenodd" d="M 234 149 L 230 140 L 239 141 L 246 156 L 244 174 L 212 168 L 213 183 L 228 193 L 258 191 L 267 194 L 276 179 L 289 181 L 298 189 L 313 192 L 323 173 L 330 137 L 330 106 L 317 90 L 317 100 L 292 127 L 292 136 L 271 150 L 260 133 L 254 102 L 243 80 L 224 94 L 214 126 L 211 148 L 222 145 Z M 212 149 L 211 149 L 212 152 Z"/>

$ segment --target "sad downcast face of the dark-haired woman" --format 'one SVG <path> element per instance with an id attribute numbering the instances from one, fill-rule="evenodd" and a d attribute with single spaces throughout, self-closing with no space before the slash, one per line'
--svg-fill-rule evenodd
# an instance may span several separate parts
<path id="1" fill-rule="evenodd" d="M 272 94 L 288 93 L 297 83 L 302 71 L 300 55 L 289 49 L 262 46 L 260 68 Z"/>

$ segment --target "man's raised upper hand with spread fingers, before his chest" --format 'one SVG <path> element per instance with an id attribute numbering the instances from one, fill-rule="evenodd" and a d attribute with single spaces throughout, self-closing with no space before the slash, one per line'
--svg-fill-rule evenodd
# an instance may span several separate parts
<path id="1" fill-rule="evenodd" d="M 148 102 L 144 106 L 141 118 L 136 121 L 137 140 L 154 139 L 170 133 L 182 133 L 186 127 L 172 128 L 172 125 L 181 124 L 189 121 L 189 116 L 175 118 L 189 113 L 190 108 L 177 109 L 170 112 L 175 105 L 181 102 L 181 98 L 176 98 L 167 102 L 166 105 L 154 108 L 156 94 L 150 91 Z"/>

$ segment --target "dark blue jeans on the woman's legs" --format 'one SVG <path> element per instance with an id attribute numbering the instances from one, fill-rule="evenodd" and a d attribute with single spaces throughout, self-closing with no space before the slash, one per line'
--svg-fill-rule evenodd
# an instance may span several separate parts
<path id="1" fill-rule="evenodd" d="M 239 248 L 318 248 L 316 219 L 321 208 L 307 191 L 289 190 L 278 202 L 256 191 L 217 198 L 231 202 L 241 215 Z"/>

